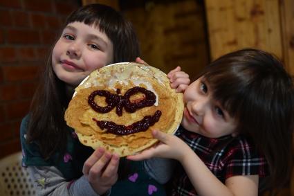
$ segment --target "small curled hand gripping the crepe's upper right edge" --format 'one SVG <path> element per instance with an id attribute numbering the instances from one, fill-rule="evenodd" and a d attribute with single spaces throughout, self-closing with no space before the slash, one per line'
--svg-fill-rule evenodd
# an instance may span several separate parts
<path id="1" fill-rule="evenodd" d="M 177 66 L 176 69 L 169 71 L 169 73 L 167 73 L 167 78 L 169 78 L 170 86 L 176 89 L 177 93 L 183 93 L 190 84 L 189 75 L 181 71 L 181 66 Z"/>

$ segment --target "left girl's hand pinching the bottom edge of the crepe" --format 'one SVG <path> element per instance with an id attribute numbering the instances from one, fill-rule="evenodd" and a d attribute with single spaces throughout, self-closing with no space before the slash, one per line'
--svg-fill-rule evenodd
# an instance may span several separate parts
<path id="1" fill-rule="evenodd" d="M 96 193 L 104 194 L 118 179 L 118 154 L 111 154 L 104 148 L 97 148 L 84 162 L 83 174 Z"/>

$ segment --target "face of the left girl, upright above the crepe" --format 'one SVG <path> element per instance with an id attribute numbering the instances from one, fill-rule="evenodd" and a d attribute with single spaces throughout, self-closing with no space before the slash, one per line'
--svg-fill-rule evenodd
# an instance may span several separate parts
<path id="1" fill-rule="evenodd" d="M 52 64 L 57 77 L 76 87 L 93 70 L 113 62 L 113 44 L 98 28 L 70 23 L 53 48 Z"/>

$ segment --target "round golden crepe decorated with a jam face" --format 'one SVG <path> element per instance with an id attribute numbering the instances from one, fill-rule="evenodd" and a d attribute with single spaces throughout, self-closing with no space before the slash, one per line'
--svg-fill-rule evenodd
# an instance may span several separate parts
<path id="1" fill-rule="evenodd" d="M 132 92 L 126 99 L 125 96 L 133 91 L 133 88 L 145 90 Z M 98 92 L 99 95 L 97 95 Z M 111 95 L 108 100 L 107 96 L 101 95 L 102 92 Z M 129 104 L 138 103 L 139 105 L 149 97 L 147 93 L 154 98 L 153 103 L 132 112 L 127 112 L 127 106 L 124 104 L 118 106 L 114 99 L 111 99 L 111 97 L 125 98 L 129 100 Z M 90 98 L 91 104 L 89 104 L 89 96 L 92 98 Z M 108 109 L 109 111 L 101 113 L 101 111 L 95 111 L 93 105 L 98 105 L 100 109 L 112 106 Z M 145 118 L 154 119 L 155 117 L 152 116 L 159 114 L 158 111 L 161 115 L 157 122 L 145 127 L 145 130 L 141 132 L 129 134 L 129 129 L 136 130 L 134 128 L 138 124 L 136 122 L 141 121 L 141 126 L 145 126 L 145 123 L 142 123 L 147 121 Z M 157 139 L 152 137 L 151 129 L 173 134 L 181 123 L 182 115 L 183 95 L 176 93 L 170 87 L 167 75 L 152 66 L 129 62 L 104 66 L 85 78 L 75 89 L 74 96 L 65 112 L 65 120 L 68 126 L 73 127 L 84 145 L 91 146 L 93 149 L 102 146 L 110 152 L 116 152 L 120 157 L 125 157 L 156 143 Z M 100 122 L 99 125 L 98 122 Z M 106 125 L 105 122 L 115 123 L 117 127 L 125 126 L 127 129 L 125 132 L 128 134 L 120 135 L 111 132 L 110 128 L 108 130 L 100 127 L 103 123 Z"/>

